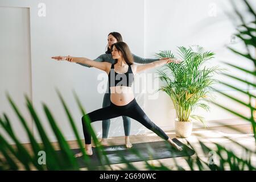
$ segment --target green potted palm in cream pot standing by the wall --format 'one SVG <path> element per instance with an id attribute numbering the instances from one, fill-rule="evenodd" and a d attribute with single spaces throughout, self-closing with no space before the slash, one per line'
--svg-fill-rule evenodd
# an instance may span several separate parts
<path id="1" fill-rule="evenodd" d="M 201 121 L 206 127 L 205 120 L 192 112 L 198 107 L 209 111 L 206 97 L 209 96 L 211 85 L 214 83 L 213 74 L 220 71 L 218 66 L 208 67 L 205 64 L 213 59 L 214 53 L 205 51 L 203 47 L 178 47 L 178 57 L 171 51 L 160 51 L 158 57 L 181 59 L 180 64 L 169 63 L 163 70 L 158 70 L 160 80 L 165 86 L 160 86 L 171 97 L 177 118 L 175 132 L 177 137 L 187 138 L 192 133 L 192 119 Z"/>

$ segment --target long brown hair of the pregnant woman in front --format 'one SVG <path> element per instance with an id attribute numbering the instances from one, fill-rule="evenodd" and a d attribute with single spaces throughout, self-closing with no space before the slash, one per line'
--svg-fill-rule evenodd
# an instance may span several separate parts
<path id="1" fill-rule="evenodd" d="M 128 47 L 128 45 L 125 42 L 114 43 L 111 46 L 111 51 L 113 49 L 113 46 L 115 46 L 115 48 L 117 48 L 117 50 L 121 52 L 121 55 L 123 56 L 123 59 L 125 60 L 125 62 L 128 65 L 133 64 L 133 62 L 134 62 L 133 55 L 131 54 L 130 48 Z M 117 59 L 115 60 L 115 63 L 117 63 Z"/>

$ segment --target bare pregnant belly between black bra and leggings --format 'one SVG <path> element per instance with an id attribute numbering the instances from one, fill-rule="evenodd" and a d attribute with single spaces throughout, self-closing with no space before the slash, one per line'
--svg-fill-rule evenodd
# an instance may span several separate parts
<path id="1" fill-rule="evenodd" d="M 110 101 L 114 105 L 124 106 L 134 99 L 133 90 L 129 86 L 110 87 Z"/>

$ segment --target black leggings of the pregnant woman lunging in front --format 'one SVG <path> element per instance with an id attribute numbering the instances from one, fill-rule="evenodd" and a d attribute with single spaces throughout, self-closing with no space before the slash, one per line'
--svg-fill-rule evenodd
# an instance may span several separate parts
<path id="1" fill-rule="evenodd" d="M 90 118 L 91 122 L 116 118 L 121 115 L 125 115 L 127 117 L 137 120 L 142 125 L 144 125 L 147 129 L 154 131 L 155 134 L 157 134 L 159 137 L 163 138 L 164 140 L 169 139 L 169 137 L 166 135 L 166 133 L 164 133 L 164 131 L 162 129 L 160 129 L 158 126 L 156 126 L 155 123 L 153 123 L 150 120 L 150 118 L 147 117 L 147 115 L 144 113 L 144 111 L 138 105 L 135 98 L 133 101 L 129 102 L 129 104 L 124 105 L 124 106 L 115 105 L 110 101 L 110 106 L 94 110 L 86 115 Z M 85 144 L 90 144 L 91 143 L 91 134 L 86 129 L 86 125 L 84 123 L 85 122 L 84 117 L 86 115 L 84 115 L 82 117 L 82 130 L 84 131 Z"/>

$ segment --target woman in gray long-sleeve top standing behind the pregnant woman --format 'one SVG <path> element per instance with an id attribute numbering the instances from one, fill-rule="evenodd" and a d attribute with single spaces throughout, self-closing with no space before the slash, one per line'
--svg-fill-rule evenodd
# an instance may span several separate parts
<path id="1" fill-rule="evenodd" d="M 108 50 L 105 52 L 105 54 L 98 56 L 96 59 L 94 59 L 94 61 L 98 61 L 98 62 L 108 62 L 108 63 L 115 63 L 115 60 L 112 57 L 111 54 L 111 46 L 114 43 L 117 42 L 122 42 L 122 35 L 119 34 L 118 32 L 110 32 L 108 35 Z M 164 59 L 168 59 L 168 58 L 162 58 L 160 60 L 164 60 Z M 133 54 L 133 60 L 135 63 L 139 63 L 139 64 L 146 64 L 146 63 L 152 63 L 154 61 L 158 61 L 159 59 L 144 59 L 142 57 L 136 56 Z M 92 67 L 89 64 L 85 64 L 85 63 L 77 63 L 80 64 L 84 67 Z M 117 66 L 117 65 L 116 65 Z M 123 69 L 122 67 L 117 68 L 117 69 Z M 103 98 L 103 103 L 102 103 L 102 107 L 107 107 L 110 105 L 110 90 L 108 89 L 108 91 L 104 94 L 104 98 Z M 123 128 L 125 129 L 125 146 L 127 148 L 131 148 L 133 145 L 130 142 L 130 128 L 131 128 L 131 119 L 129 117 L 126 117 L 125 115 L 122 115 L 123 118 Z M 102 139 L 101 139 L 101 144 L 103 146 L 107 146 L 108 142 L 108 134 L 109 134 L 109 127 L 110 127 L 110 119 L 104 119 L 102 121 Z"/>

